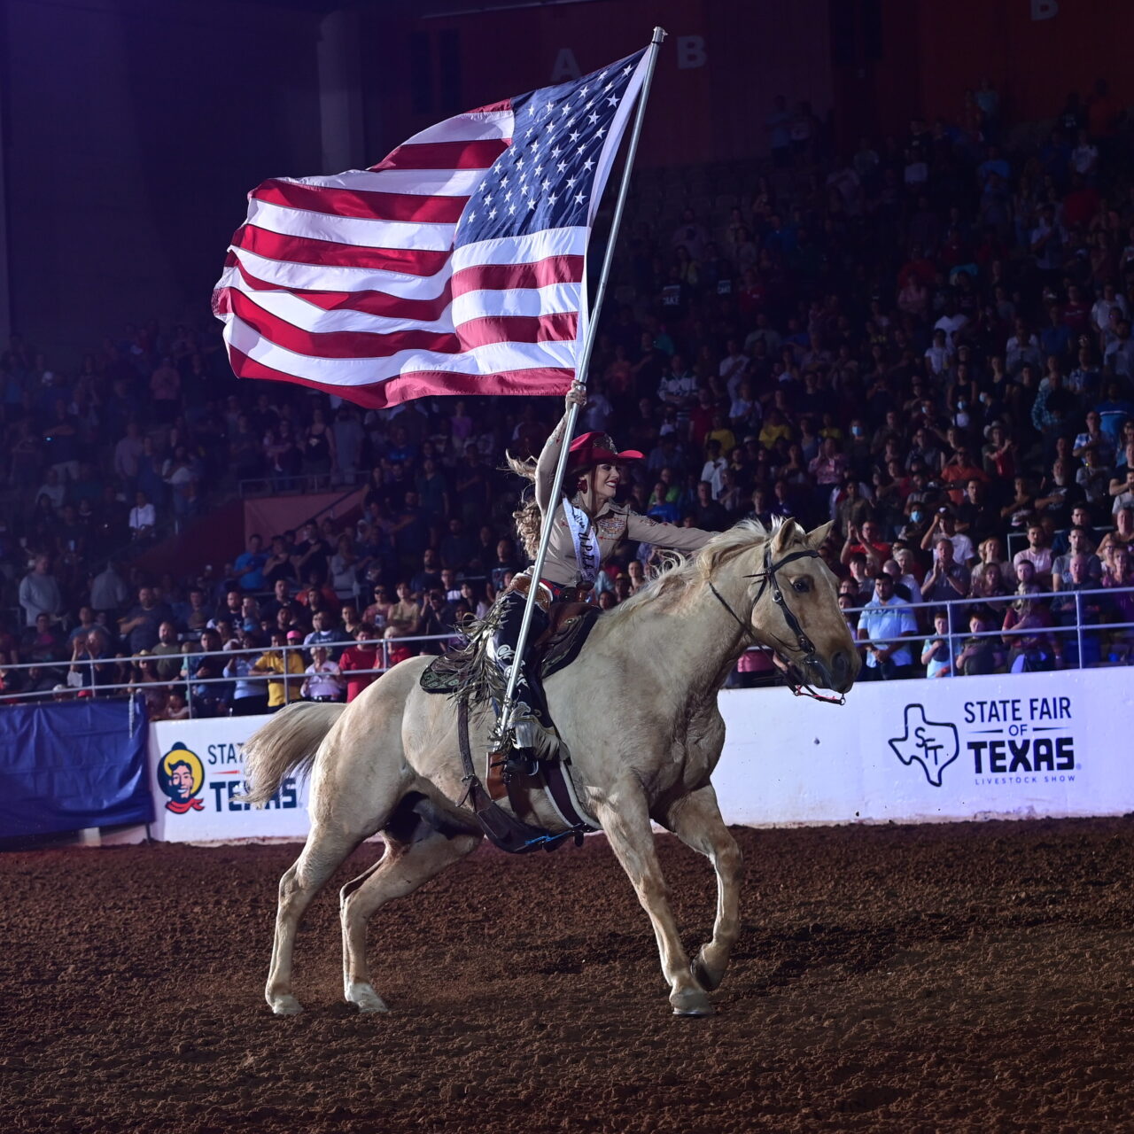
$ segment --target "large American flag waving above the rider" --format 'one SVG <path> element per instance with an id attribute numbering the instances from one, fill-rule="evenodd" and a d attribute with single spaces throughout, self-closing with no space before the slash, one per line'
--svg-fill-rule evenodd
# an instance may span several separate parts
<path id="1" fill-rule="evenodd" d="M 213 310 L 238 378 L 381 408 L 564 393 L 586 248 L 648 50 L 457 115 L 383 161 L 248 194 Z"/>

